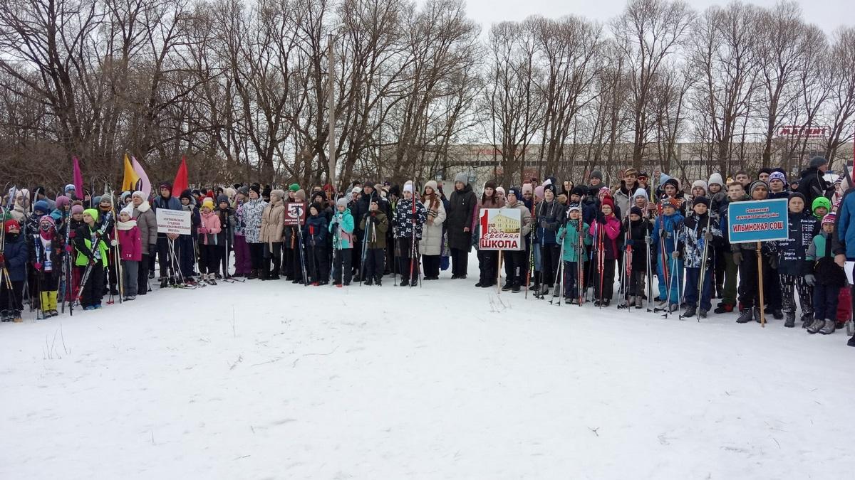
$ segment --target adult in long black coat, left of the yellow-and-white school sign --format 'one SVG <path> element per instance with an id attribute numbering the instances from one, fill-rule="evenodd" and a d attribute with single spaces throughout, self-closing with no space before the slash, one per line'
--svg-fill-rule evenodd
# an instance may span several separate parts
<path id="1" fill-rule="evenodd" d="M 448 231 L 448 248 L 451 250 L 451 278 L 466 278 L 469 251 L 472 249 L 472 217 L 478 197 L 469 185 L 466 173 L 457 173 L 454 191 L 445 209 L 445 226 Z"/>

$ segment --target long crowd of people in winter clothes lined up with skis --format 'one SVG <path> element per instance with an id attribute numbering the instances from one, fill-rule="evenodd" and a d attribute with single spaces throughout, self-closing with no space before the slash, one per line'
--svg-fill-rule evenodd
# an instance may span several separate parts
<path id="1" fill-rule="evenodd" d="M 338 195 L 328 184 L 308 191 L 233 184 L 178 198 L 168 182 L 155 192 L 102 196 L 72 184 L 56 196 L 12 187 L 0 216 L 0 310 L 4 322 L 21 321 L 25 305 L 48 318 L 60 308 L 101 308 L 105 296 L 133 301 L 152 284 L 284 278 L 345 287 L 382 285 L 391 275 L 411 287 L 448 269 L 451 279 L 465 279 L 481 211 L 513 208 L 525 248 L 479 250 L 475 287 L 525 290 L 559 304 L 615 301 L 666 317 L 736 312 L 740 324 L 768 314 L 785 327 L 796 325 L 798 303 L 800 325 L 828 335 L 852 314 L 846 260 L 855 260 L 855 196 L 848 175 L 829 182 L 827 171 L 828 161 L 814 157 L 798 178 L 763 168 L 753 177 L 713 173 L 684 188 L 634 168 L 610 186 L 595 170 L 579 185 L 488 181 L 480 195 L 465 173 L 450 193 L 433 180 L 421 189 L 355 182 Z M 787 199 L 786 240 L 728 242 L 728 204 L 778 198 Z M 301 211 L 292 203 L 306 210 L 297 223 L 286 221 Z M 157 209 L 189 212 L 190 233 L 159 232 Z"/>

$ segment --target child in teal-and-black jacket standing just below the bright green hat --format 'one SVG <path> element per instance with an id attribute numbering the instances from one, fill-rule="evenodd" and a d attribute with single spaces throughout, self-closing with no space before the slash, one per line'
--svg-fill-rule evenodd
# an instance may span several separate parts
<path id="1" fill-rule="evenodd" d="M 805 282 L 813 287 L 814 315 L 808 333 L 834 333 L 837 298 L 840 289 L 846 285 L 846 272 L 834 263 L 834 255 L 831 253 L 835 217 L 834 214 L 828 214 L 823 218 L 823 230 L 813 238 L 807 249 L 806 260 L 811 272 L 805 275 Z"/>

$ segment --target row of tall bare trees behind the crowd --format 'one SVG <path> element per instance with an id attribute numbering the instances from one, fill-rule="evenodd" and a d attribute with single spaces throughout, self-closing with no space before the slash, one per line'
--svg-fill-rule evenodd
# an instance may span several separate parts
<path id="1" fill-rule="evenodd" d="M 153 181 L 182 156 L 200 184 L 320 184 L 329 155 L 339 185 L 428 179 L 466 161 L 461 143 L 491 145 L 507 182 L 686 176 L 681 159 L 732 171 L 816 149 L 783 125 L 828 126 L 831 158 L 855 129 L 855 28 L 822 32 L 788 2 L 633 0 L 605 24 L 482 35 L 461 0 L 9 0 L 0 51 L 2 174 L 38 184 L 73 155 L 115 182 L 125 152 Z"/>

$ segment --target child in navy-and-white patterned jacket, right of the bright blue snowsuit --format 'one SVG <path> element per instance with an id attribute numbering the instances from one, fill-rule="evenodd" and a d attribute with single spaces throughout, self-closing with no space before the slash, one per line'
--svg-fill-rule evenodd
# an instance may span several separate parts
<path id="1" fill-rule="evenodd" d="M 710 256 L 716 244 L 722 240 L 722 231 L 718 222 L 713 220 L 708 209 L 710 199 L 697 196 L 693 200 L 692 214 L 680 227 L 677 236 L 675 255 L 683 258 L 686 266 L 686 290 L 683 298 L 686 301 L 684 317 L 693 317 L 698 313 L 706 318 L 706 313 L 712 307 L 712 261 Z M 699 298 L 700 297 L 700 298 Z"/>

